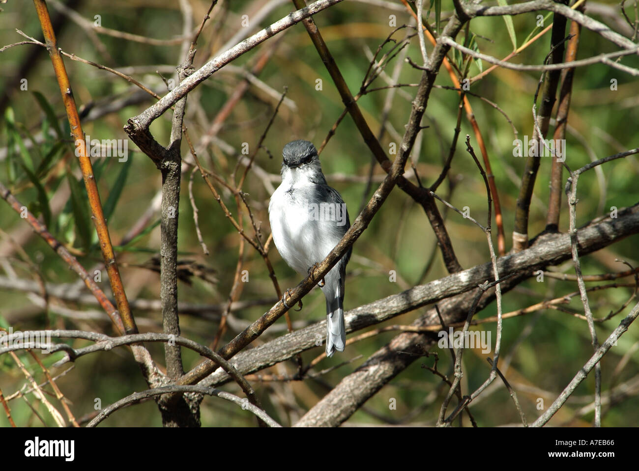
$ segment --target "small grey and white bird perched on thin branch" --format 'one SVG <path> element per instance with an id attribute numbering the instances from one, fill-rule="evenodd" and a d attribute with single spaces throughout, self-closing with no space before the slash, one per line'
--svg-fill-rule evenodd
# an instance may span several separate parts
<path id="1" fill-rule="evenodd" d="M 328 186 L 312 142 L 293 140 L 284 146 L 281 175 L 268 204 L 273 243 L 289 267 L 307 276 L 351 227 L 348 209 L 339 192 Z M 344 281 L 351 252 L 352 247 L 319 282 L 326 297 L 327 357 L 343 352 L 346 344 Z M 286 306 L 285 298 L 286 293 Z"/>

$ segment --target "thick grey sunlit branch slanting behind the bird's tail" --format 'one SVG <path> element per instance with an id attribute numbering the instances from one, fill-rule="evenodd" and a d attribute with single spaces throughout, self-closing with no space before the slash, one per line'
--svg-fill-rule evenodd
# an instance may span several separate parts
<path id="1" fill-rule="evenodd" d="M 623 214 L 622 214 L 623 213 Z M 578 231 L 580 253 L 592 253 L 610 244 L 616 243 L 624 237 L 639 232 L 639 204 L 621 211 L 618 218 L 605 220 L 587 225 Z M 507 257 L 497 259 L 498 273 L 502 278 L 510 273 L 518 272 L 528 274 L 543 269 L 545 266 L 557 265 L 571 257 L 571 243 L 569 234 L 543 234 L 526 250 Z M 460 273 L 451 274 L 440 280 L 431 281 L 426 285 L 419 285 L 399 294 L 390 295 L 373 303 L 364 304 L 344 315 L 346 332 L 351 333 L 364 329 L 374 324 L 379 324 L 391 318 L 397 317 L 427 304 L 438 303 L 442 299 L 460 295 L 460 299 L 468 297 L 472 291 L 486 280 L 493 278 L 491 262 L 467 269 Z M 507 280 L 509 282 L 510 280 Z M 502 289 L 504 289 L 502 287 Z M 446 302 L 449 300 L 446 300 Z M 482 301 L 483 302 L 483 301 Z M 440 304 L 441 306 L 441 304 Z M 447 325 L 465 319 L 468 309 L 458 318 L 449 315 Z M 440 325 L 435 310 L 429 311 L 426 321 L 419 325 Z M 282 361 L 286 361 L 298 352 L 316 348 L 315 338 L 317 334 L 326 331 L 326 321 L 309 325 L 291 334 L 286 334 L 258 347 L 241 352 L 234 359 L 238 371 L 243 374 L 259 371 Z M 423 339 L 424 337 L 420 337 Z M 416 341 L 417 342 L 417 341 Z M 419 343 L 419 342 L 418 342 Z M 389 360 L 390 361 L 390 360 Z M 381 373 L 380 373 L 381 374 Z M 219 385 L 227 380 L 223 371 L 216 371 L 211 377 L 206 378 L 204 384 Z M 391 378 L 387 378 L 386 382 Z"/>

